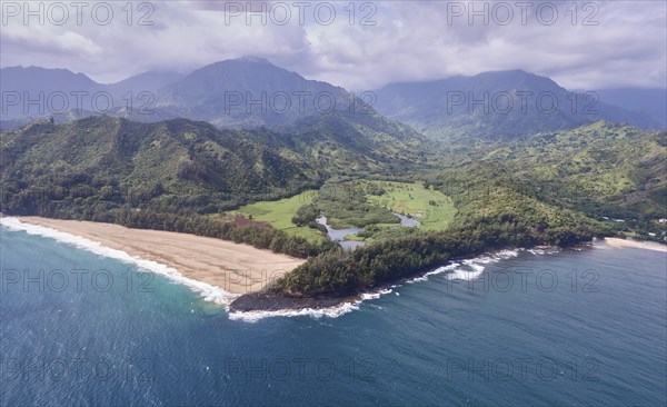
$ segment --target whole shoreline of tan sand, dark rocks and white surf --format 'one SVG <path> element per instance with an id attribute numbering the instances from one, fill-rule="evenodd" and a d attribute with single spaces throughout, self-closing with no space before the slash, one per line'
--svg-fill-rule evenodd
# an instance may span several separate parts
<path id="1" fill-rule="evenodd" d="M 549 252 L 554 248 L 536 246 L 495 250 L 482 254 L 471 254 L 462 258 L 451 259 L 445 266 L 421 270 L 400 279 L 386 281 L 367 292 L 356 292 L 341 296 L 286 297 L 263 288 L 276 278 L 291 271 L 305 259 L 261 250 L 248 245 L 196 235 L 171 231 L 130 229 L 115 224 L 101 224 L 79 220 L 62 220 L 41 217 L 2 217 L 3 225 L 12 228 L 4 220 L 18 221 L 23 226 L 37 226 L 44 231 L 29 230 L 29 227 L 16 228 L 32 235 L 54 238 L 100 256 L 131 262 L 142 269 L 162 275 L 171 280 L 183 284 L 201 292 L 206 300 L 226 305 L 230 316 L 240 318 L 241 315 L 267 312 L 282 315 L 286 312 L 326 311 L 346 305 L 354 307 L 367 298 L 377 298 L 379 294 L 404 284 L 428 279 L 428 276 L 454 271 L 456 275 L 470 272 L 455 270 L 468 261 L 486 264 L 502 258 L 507 251 L 530 251 L 534 254 Z M 59 238 L 54 234 L 69 235 Z M 80 239 L 81 241 L 78 241 Z M 88 245 L 86 244 L 88 241 Z M 623 238 L 594 239 L 593 242 L 576 245 L 591 247 L 598 241 L 610 248 L 640 248 L 667 252 L 667 245 L 651 241 L 627 240 Z M 97 245 L 91 249 L 90 244 Z M 573 247 L 574 248 L 574 247 Z M 106 250 L 117 251 L 109 255 Z M 125 256 L 123 256 L 125 255 Z M 484 269 L 484 267 L 482 267 Z M 467 278 L 467 277 L 462 277 Z M 326 312 L 325 312 L 326 314 Z M 287 315 L 287 314 L 286 314 Z"/>

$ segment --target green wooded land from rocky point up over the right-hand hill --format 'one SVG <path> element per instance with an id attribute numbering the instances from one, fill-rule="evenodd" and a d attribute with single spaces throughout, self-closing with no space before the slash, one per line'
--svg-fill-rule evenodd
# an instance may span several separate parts
<path id="1" fill-rule="evenodd" d="M 497 146 L 482 160 L 425 176 L 425 185 L 450 196 L 458 209 L 447 230 L 401 228 L 351 254 L 320 254 L 272 290 L 351 295 L 457 256 L 570 246 L 623 231 L 638 236 L 649 227 L 664 240 L 658 218 L 667 218 L 666 145 L 665 132 L 599 122 Z M 634 218 L 621 222 L 613 214 Z"/>

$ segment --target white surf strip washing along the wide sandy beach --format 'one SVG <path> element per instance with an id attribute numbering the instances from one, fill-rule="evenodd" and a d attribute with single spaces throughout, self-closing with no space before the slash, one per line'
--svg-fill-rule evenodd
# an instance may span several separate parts
<path id="1" fill-rule="evenodd" d="M 182 284 L 193 291 L 199 292 L 206 301 L 212 301 L 227 307 L 236 297 L 238 297 L 237 295 L 225 291 L 219 287 L 188 278 L 180 274 L 180 271 L 177 269 L 167 265 L 162 265 L 152 260 L 146 260 L 137 256 L 131 256 L 122 250 L 106 247 L 98 241 L 93 241 L 81 236 L 71 235 L 44 226 L 26 224 L 17 218 L 0 218 L 0 225 L 12 230 L 24 231 L 28 235 L 51 238 L 59 242 L 73 246 L 101 257 L 107 257 L 137 266 L 139 270 L 155 272 L 156 275 L 167 277 L 175 282 Z"/>

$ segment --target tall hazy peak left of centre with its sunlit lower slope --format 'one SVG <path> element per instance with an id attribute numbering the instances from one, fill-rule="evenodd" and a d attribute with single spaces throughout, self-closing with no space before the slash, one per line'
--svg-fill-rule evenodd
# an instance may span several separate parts
<path id="1" fill-rule="evenodd" d="M 195 70 L 161 89 L 156 113 L 205 120 L 219 128 L 267 128 L 256 141 L 287 148 L 331 172 L 404 168 L 424 138 L 387 119 L 344 88 L 308 80 L 262 58 Z"/>

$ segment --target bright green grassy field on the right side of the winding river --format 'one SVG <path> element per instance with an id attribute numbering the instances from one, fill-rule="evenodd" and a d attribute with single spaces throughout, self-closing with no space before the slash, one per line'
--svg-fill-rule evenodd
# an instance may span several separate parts
<path id="1" fill-rule="evenodd" d="M 445 229 L 454 219 L 456 208 L 451 199 L 439 191 L 424 188 L 420 183 L 369 181 L 385 189 L 381 196 L 368 196 L 372 205 L 394 212 L 409 215 L 418 220 L 424 230 Z"/>

